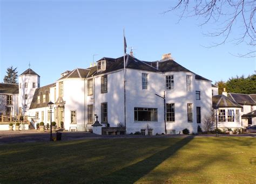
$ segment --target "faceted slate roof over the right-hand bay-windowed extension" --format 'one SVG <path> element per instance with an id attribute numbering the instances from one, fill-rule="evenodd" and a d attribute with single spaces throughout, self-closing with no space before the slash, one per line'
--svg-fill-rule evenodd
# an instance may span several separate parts
<path id="1" fill-rule="evenodd" d="M 227 107 L 238 107 L 242 108 L 241 105 L 226 97 L 225 95 L 214 95 L 212 96 L 212 107 L 213 108 L 227 108 Z"/>

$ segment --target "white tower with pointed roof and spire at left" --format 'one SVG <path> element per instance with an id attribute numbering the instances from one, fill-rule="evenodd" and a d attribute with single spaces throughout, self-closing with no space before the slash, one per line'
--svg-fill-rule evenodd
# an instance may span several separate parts
<path id="1" fill-rule="evenodd" d="M 30 66 L 30 65 L 29 65 Z M 40 87 L 40 76 L 30 67 L 19 75 L 19 114 L 27 115 L 36 88 Z"/>

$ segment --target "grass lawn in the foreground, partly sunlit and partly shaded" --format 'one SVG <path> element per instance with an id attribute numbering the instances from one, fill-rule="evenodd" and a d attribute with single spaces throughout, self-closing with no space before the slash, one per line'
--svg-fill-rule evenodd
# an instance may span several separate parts
<path id="1" fill-rule="evenodd" d="M 250 137 L 85 139 L 0 146 L 0 183 L 256 183 Z"/>

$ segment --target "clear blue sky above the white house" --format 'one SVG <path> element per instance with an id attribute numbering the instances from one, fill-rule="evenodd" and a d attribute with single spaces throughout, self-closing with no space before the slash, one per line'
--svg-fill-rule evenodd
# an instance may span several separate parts
<path id="1" fill-rule="evenodd" d="M 194 17 L 177 23 L 178 12 L 163 14 L 173 2 L 0 0 L 0 82 L 11 65 L 21 74 L 30 62 L 45 86 L 65 70 L 89 67 L 93 54 L 95 61 L 122 56 L 124 28 L 127 46 L 140 60 L 172 53 L 180 65 L 213 83 L 254 74 L 254 58 L 234 56 L 247 52 L 245 44 L 205 48 L 221 40 L 203 34 L 214 24 L 198 26 Z M 233 30 L 231 38 L 236 34 Z"/>

